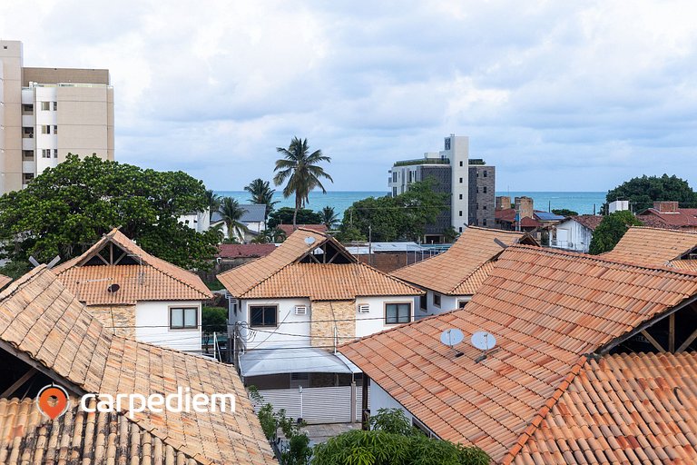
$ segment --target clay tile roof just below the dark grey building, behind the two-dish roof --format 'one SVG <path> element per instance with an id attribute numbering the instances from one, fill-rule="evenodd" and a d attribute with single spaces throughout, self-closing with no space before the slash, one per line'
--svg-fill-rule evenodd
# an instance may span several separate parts
<path id="1" fill-rule="evenodd" d="M 525 236 L 496 229 L 468 226 L 447 252 L 392 272 L 395 276 L 417 286 L 447 295 L 471 295 L 486 279 L 491 266 L 504 251 L 496 240 L 513 245 Z"/>

